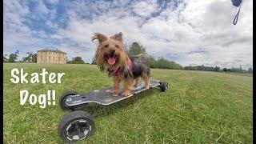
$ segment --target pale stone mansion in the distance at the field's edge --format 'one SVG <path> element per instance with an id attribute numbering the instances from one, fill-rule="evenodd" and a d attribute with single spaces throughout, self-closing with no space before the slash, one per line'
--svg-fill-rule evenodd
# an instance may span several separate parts
<path id="1" fill-rule="evenodd" d="M 38 50 L 37 63 L 66 63 L 66 53 L 61 50 Z"/>

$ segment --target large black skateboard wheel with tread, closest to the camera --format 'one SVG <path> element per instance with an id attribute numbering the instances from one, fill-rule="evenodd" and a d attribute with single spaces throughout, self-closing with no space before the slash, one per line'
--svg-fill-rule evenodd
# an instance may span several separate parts
<path id="1" fill-rule="evenodd" d="M 58 134 L 65 143 L 86 139 L 93 133 L 94 118 L 86 111 L 72 111 L 58 124 Z"/>

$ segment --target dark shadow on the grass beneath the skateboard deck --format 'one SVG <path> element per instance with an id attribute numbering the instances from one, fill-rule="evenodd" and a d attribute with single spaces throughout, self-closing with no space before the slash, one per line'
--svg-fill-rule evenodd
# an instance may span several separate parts
<path id="1" fill-rule="evenodd" d="M 135 94 L 130 98 L 126 98 L 124 100 L 121 100 L 119 102 L 114 102 L 113 104 L 106 105 L 106 106 L 99 105 L 96 103 L 90 103 L 90 105 L 86 106 L 84 110 L 94 115 L 94 118 L 107 116 L 109 114 L 114 114 L 118 110 L 123 110 L 127 106 L 137 103 L 142 98 L 151 97 L 154 94 L 154 91 L 157 91 L 157 89 L 145 90 L 139 94 Z"/>

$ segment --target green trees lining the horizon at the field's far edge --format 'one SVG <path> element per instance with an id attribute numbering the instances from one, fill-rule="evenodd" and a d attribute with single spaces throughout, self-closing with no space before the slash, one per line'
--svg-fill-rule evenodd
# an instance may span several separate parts
<path id="1" fill-rule="evenodd" d="M 138 42 L 133 42 L 130 46 L 125 45 L 126 53 L 128 56 L 137 55 L 137 54 L 146 54 L 146 48 L 139 44 Z M 13 54 L 4 54 L 3 62 L 17 62 L 19 51 L 17 50 Z M 21 61 L 18 62 L 37 62 L 37 54 L 26 53 L 27 55 L 22 58 Z M 82 57 L 74 57 L 71 58 L 70 61 L 66 63 L 70 64 L 88 64 L 82 60 Z M 96 64 L 93 60 L 91 64 Z M 223 68 L 220 69 L 219 66 L 181 66 L 176 62 L 169 61 L 165 58 L 155 59 L 150 57 L 150 68 L 154 69 L 173 69 L 173 70 L 202 70 L 202 71 L 215 71 L 215 72 L 235 72 L 235 73 L 253 73 L 253 68 L 250 67 L 248 70 L 243 70 L 242 66 L 239 68 L 232 67 L 230 69 Z"/>

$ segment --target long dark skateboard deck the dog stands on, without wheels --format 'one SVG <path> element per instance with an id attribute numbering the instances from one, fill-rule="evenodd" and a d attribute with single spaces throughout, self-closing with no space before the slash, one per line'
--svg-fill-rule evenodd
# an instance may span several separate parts
<path id="1" fill-rule="evenodd" d="M 110 105 L 114 102 L 121 101 L 126 98 L 132 97 L 134 94 L 138 94 L 144 90 L 148 90 L 150 88 L 160 86 L 160 81 L 158 80 L 152 80 L 150 81 L 150 87 L 144 88 L 144 83 L 141 82 L 138 84 L 137 87 L 134 87 L 131 90 L 131 94 L 127 97 L 124 97 L 122 95 L 113 96 L 111 93 L 112 87 L 108 87 L 106 89 L 102 90 L 93 90 L 86 94 L 77 94 L 77 95 L 70 95 L 69 98 L 66 99 L 66 105 L 68 106 L 78 106 L 85 103 L 95 102 L 100 105 Z M 123 87 L 120 89 L 120 94 L 124 91 Z"/>

